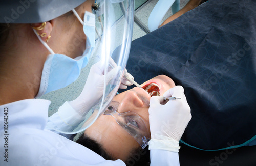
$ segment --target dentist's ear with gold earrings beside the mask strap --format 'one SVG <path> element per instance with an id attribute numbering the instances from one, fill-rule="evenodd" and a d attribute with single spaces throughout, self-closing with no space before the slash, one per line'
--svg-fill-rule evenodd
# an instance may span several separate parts
<path id="1" fill-rule="evenodd" d="M 31 26 L 43 41 L 49 41 L 49 39 L 51 38 L 51 32 L 53 27 L 52 21 L 32 23 Z"/>

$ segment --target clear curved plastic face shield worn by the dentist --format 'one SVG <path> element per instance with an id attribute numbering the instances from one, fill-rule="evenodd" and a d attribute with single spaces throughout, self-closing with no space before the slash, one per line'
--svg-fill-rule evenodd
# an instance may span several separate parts
<path id="1" fill-rule="evenodd" d="M 57 103 L 59 101 L 54 101 L 53 98 L 61 96 L 60 94 L 65 94 L 64 97 L 62 96 L 65 101 L 79 99 L 81 93 L 86 94 L 79 99 L 82 110 L 77 111 L 69 104 L 65 104 L 66 102 L 60 104 L 60 107 L 52 108 L 50 113 L 52 116 L 47 125 L 61 133 L 78 133 L 92 125 L 105 112 L 116 95 L 125 73 L 132 41 L 134 2 L 133 0 L 98 0 L 97 5 L 98 10 L 93 10 L 95 28 L 93 25 L 84 27 L 87 40 L 91 40 L 87 47 L 92 48 L 89 54 L 86 53 L 88 63 L 82 69 L 77 81 L 68 86 L 68 89 L 73 90 L 70 93 L 74 95 L 73 98 L 69 98 L 68 93 L 63 93 L 65 88 L 55 94 L 49 94 L 52 105 L 59 104 Z M 86 14 L 83 23 L 86 24 L 90 18 Z M 93 31 L 95 33 L 90 33 Z M 42 98 L 48 97 L 42 96 Z"/>

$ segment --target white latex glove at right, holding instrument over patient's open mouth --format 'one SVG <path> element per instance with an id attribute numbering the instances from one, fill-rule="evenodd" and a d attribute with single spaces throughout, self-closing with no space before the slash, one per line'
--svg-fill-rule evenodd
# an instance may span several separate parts
<path id="1" fill-rule="evenodd" d="M 150 100 L 150 149 L 163 149 L 178 152 L 179 140 L 191 119 L 190 107 L 184 89 L 176 86 L 163 94 L 163 97 L 177 97 L 162 105 L 163 97 L 153 96 Z"/>

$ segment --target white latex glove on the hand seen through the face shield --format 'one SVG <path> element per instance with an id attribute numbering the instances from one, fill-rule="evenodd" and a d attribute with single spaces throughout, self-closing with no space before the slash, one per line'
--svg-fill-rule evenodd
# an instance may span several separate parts
<path id="1" fill-rule="evenodd" d="M 113 60 L 111 59 L 110 61 Z M 114 63 L 114 61 L 111 63 Z M 106 82 L 115 78 L 116 75 L 120 74 L 120 71 L 120 66 L 115 65 L 113 69 L 109 67 L 108 73 L 106 73 Z M 87 110 L 90 110 L 102 97 L 104 77 L 104 65 L 101 62 L 97 62 L 91 67 L 81 94 L 75 100 L 68 102 L 78 114 L 82 115 Z"/>

